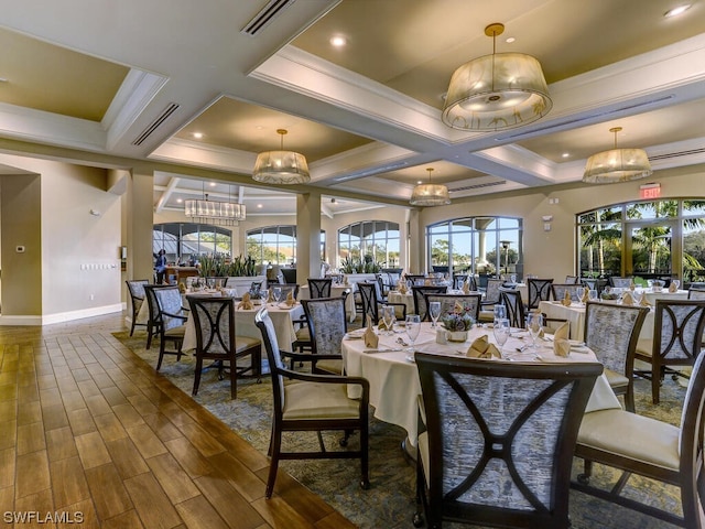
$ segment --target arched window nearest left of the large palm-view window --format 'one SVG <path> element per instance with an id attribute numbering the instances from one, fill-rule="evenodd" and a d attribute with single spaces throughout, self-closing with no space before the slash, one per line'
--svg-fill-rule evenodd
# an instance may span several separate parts
<path id="1" fill-rule="evenodd" d="M 432 269 L 455 273 L 523 274 L 522 220 L 511 217 L 467 217 L 426 227 Z M 445 268 L 447 267 L 447 268 Z"/>

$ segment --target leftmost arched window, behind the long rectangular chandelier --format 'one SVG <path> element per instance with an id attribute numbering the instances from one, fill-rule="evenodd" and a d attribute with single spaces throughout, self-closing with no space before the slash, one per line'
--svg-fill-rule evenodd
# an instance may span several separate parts
<path id="1" fill-rule="evenodd" d="M 232 231 L 220 226 L 191 223 L 155 224 L 152 252 L 166 250 L 169 262 L 188 262 L 200 255 L 232 253 Z"/>

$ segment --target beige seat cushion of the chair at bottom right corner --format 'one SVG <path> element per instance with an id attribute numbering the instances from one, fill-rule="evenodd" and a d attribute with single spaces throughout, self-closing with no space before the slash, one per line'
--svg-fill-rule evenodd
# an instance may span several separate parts
<path id="1" fill-rule="evenodd" d="M 585 413 L 577 443 L 677 471 L 680 429 L 622 410 Z"/>

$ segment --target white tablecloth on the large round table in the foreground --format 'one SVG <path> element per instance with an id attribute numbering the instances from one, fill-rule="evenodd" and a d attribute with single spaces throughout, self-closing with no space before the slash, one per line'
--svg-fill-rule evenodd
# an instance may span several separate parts
<path id="1" fill-rule="evenodd" d="M 474 327 L 466 343 L 441 345 L 435 342 L 436 334 L 431 328 L 431 323 L 423 323 L 421 333 L 416 338 L 415 348 L 424 353 L 441 355 L 465 354 L 470 343 L 482 334 L 488 334 L 490 342 L 495 342 L 491 330 Z M 405 334 L 395 334 L 393 336 L 381 334 L 379 336 L 379 348 L 401 347 L 395 343 L 399 336 L 408 341 Z M 514 349 L 525 343 L 525 341 L 512 337 L 505 344 L 502 350 L 516 354 Z M 544 358 L 543 361 L 597 361 L 595 355 L 589 350 L 573 353 L 568 358 L 560 358 L 553 354 L 551 346 L 551 344 L 541 343 L 539 353 Z M 405 350 L 364 353 L 367 349 L 364 339 L 348 338 L 343 341 L 341 349 L 346 373 L 350 376 L 365 377 L 370 382 L 370 404 L 375 407 L 375 417 L 406 430 L 409 442 L 415 446 L 419 418 L 417 396 L 421 395 L 421 382 L 416 365 L 406 360 L 409 353 Z M 531 361 L 532 357 L 533 355 L 528 355 L 525 358 Z M 350 386 L 350 397 L 358 397 L 358 395 L 355 395 L 356 389 L 359 388 Z M 620 403 L 603 375 L 597 379 L 593 389 L 586 412 L 607 408 L 620 408 Z"/>

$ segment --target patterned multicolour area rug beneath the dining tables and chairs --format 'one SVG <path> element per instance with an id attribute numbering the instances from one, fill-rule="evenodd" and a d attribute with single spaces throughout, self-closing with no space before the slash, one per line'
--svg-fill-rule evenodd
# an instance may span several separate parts
<path id="1" fill-rule="evenodd" d="M 144 333 L 135 332 L 133 337 L 119 332 L 113 335 L 148 364 L 156 366 L 158 349 L 144 349 Z M 161 373 L 176 387 L 191 395 L 194 380 L 195 360 L 192 356 L 167 356 Z M 640 414 L 679 424 L 685 388 L 668 378 L 661 389 L 661 403 L 651 404 L 651 382 L 637 380 L 637 410 Z M 261 384 L 253 379 L 238 380 L 238 398 L 230 400 L 228 380 L 219 381 L 215 370 L 207 370 L 200 379 L 195 401 L 228 424 L 257 450 L 267 453 L 271 425 L 271 381 L 262 378 Z M 371 417 L 371 414 L 370 414 Z M 355 460 L 327 461 L 284 461 L 280 472 L 288 472 L 311 490 L 323 497 L 346 518 L 361 528 L 409 528 L 415 510 L 414 467 L 405 460 L 401 441 L 405 432 L 393 424 L 370 421 L 370 490 L 361 490 L 359 482 L 359 462 Z M 324 436 L 328 450 L 339 450 L 339 435 Z M 350 449 L 355 447 L 357 435 L 350 439 Z M 289 443 L 289 444 L 286 444 Z M 304 449 L 316 445 L 315 434 L 310 439 L 284 438 L 284 446 Z M 574 476 L 582 471 L 582 461 L 575 460 Z M 617 474 L 601 465 L 594 465 L 593 484 L 614 483 Z M 680 495 L 673 487 L 663 486 L 632 476 L 626 488 L 636 499 L 648 501 L 680 512 Z M 671 528 L 661 520 L 632 510 L 593 498 L 585 494 L 571 492 L 571 519 L 573 529 L 618 528 L 618 529 L 664 529 Z M 456 523 L 444 527 L 467 527 Z"/>

